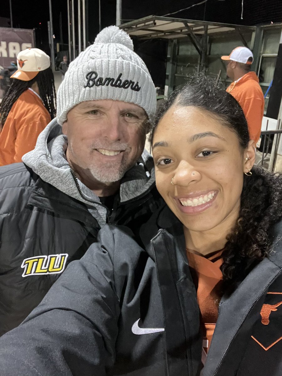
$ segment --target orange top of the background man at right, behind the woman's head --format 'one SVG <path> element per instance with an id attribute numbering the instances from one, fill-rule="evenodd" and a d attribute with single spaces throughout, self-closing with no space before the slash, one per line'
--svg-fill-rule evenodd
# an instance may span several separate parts
<path id="1" fill-rule="evenodd" d="M 239 80 L 232 82 L 226 91 L 240 103 L 248 122 L 250 139 L 257 143 L 264 115 L 264 95 L 259 86 L 258 76 L 255 72 L 246 73 Z"/>

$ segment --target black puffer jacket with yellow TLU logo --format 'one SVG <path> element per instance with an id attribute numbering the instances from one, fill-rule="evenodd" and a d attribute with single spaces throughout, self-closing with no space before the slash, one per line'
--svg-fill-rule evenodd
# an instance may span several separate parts
<path id="1" fill-rule="evenodd" d="M 117 195 L 107 222 L 138 232 L 160 202 L 154 183 L 127 202 L 120 203 Z M 23 163 L 0 168 L 0 203 L 2 335 L 41 302 L 70 261 L 84 255 L 100 225 L 87 204 L 44 182 Z"/>

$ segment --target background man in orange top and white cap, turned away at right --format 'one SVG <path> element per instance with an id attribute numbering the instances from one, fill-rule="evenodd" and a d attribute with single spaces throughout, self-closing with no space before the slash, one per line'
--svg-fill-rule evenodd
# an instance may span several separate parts
<path id="1" fill-rule="evenodd" d="M 242 107 L 247 118 L 250 139 L 258 142 L 261 121 L 264 115 L 264 95 L 255 72 L 251 72 L 252 51 L 247 47 L 236 47 L 229 56 L 221 56 L 227 62 L 227 77 L 232 83 L 226 89 Z"/>

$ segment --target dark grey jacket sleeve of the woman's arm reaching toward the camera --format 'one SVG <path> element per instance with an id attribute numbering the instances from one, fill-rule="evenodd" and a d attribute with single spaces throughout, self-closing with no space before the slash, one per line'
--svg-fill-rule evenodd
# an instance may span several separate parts
<path id="1" fill-rule="evenodd" d="M 113 249 L 109 229 L 106 236 Z M 23 324 L 0 338 L 0 375 L 105 375 L 115 362 L 119 314 L 112 258 L 96 243 Z"/>

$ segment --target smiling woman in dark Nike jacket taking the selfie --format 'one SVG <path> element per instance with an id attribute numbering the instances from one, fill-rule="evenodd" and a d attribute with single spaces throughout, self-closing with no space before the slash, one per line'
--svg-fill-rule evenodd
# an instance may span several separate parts
<path id="1" fill-rule="evenodd" d="M 100 231 L 0 339 L 5 376 L 281 374 L 281 177 L 253 167 L 242 109 L 203 76 L 160 110 L 152 147 L 167 205 L 139 244 Z"/>

